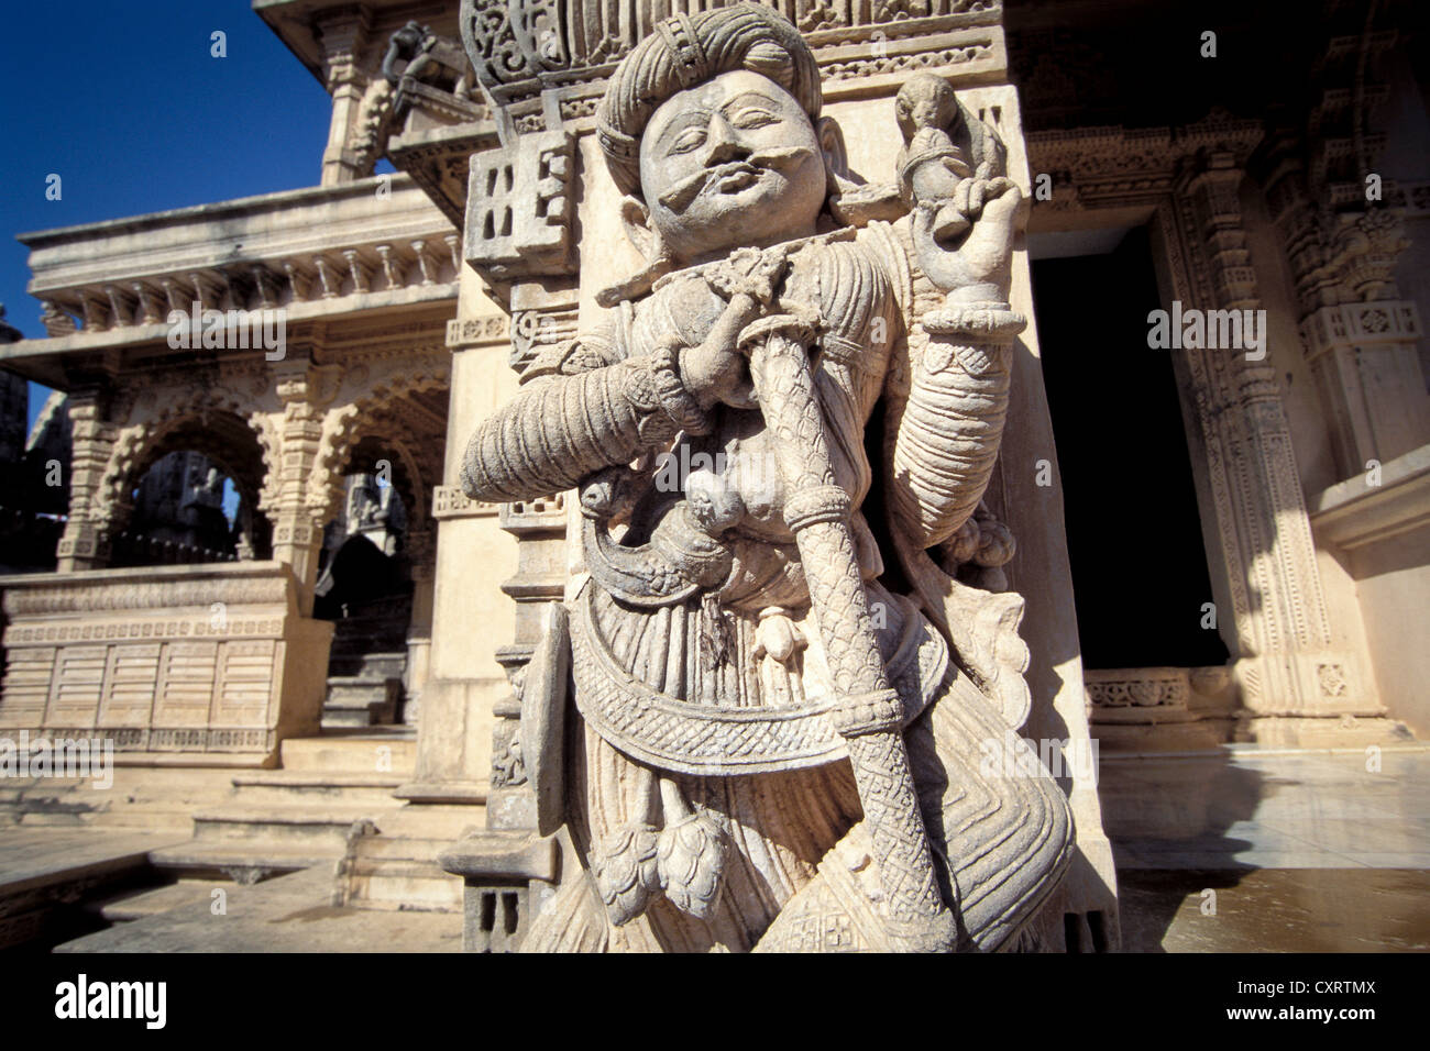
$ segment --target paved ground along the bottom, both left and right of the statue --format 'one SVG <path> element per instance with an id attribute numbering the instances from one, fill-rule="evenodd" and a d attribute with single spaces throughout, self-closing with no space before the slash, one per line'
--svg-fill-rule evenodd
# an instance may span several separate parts
<path id="1" fill-rule="evenodd" d="M 1124 951 L 1430 951 L 1430 748 L 1370 759 L 1248 748 L 1104 756 Z M 0 828 L 0 902 L 19 917 L 37 895 L 80 901 L 90 919 L 44 938 L 61 951 L 460 948 L 456 914 L 333 908 L 330 865 L 255 887 L 183 879 L 144 891 L 146 854 L 183 838 Z M 122 922 L 94 929 L 96 915 Z"/>

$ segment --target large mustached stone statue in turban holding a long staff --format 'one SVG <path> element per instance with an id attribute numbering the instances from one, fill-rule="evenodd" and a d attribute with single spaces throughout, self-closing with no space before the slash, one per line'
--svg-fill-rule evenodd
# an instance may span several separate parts
<path id="1" fill-rule="evenodd" d="M 1022 599 L 970 586 L 1012 553 L 981 500 L 1021 194 L 935 80 L 871 189 L 768 7 L 668 19 L 611 77 L 598 137 L 645 266 L 532 362 L 462 479 L 575 488 L 583 516 L 548 621 L 581 718 L 533 672 L 521 734 L 539 831 L 586 871 L 526 951 L 1015 948 L 1068 864 L 1015 735 Z"/>

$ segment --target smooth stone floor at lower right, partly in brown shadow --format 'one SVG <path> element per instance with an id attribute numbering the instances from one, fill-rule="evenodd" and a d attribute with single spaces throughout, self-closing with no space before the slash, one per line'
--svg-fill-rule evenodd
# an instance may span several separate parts
<path id="1" fill-rule="evenodd" d="M 1124 952 L 1430 951 L 1430 748 L 1103 756 Z"/>

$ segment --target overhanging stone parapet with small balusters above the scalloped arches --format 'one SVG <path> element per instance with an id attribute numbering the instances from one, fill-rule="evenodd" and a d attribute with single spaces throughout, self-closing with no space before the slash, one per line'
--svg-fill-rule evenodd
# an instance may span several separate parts
<path id="1" fill-rule="evenodd" d="M 413 290 L 453 297 L 460 239 L 403 174 L 21 235 L 51 337 L 164 325 L 170 310 L 290 320 Z M 403 300 L 406 302 L 406 300 Z"/>

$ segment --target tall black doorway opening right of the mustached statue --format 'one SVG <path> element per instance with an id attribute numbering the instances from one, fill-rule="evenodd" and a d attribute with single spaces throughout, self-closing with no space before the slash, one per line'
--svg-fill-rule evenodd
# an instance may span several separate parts
<path id="1" fill-rule="evenodd" d="M 1198 668 L 1228 653 L 1213 602 L 1173 353 L 1145 229 L 1105 255 L 1032 263 L 1042 376 L 1087 668 Z M 1226 612 L 1226 611 L 1221 611 Z"/>

